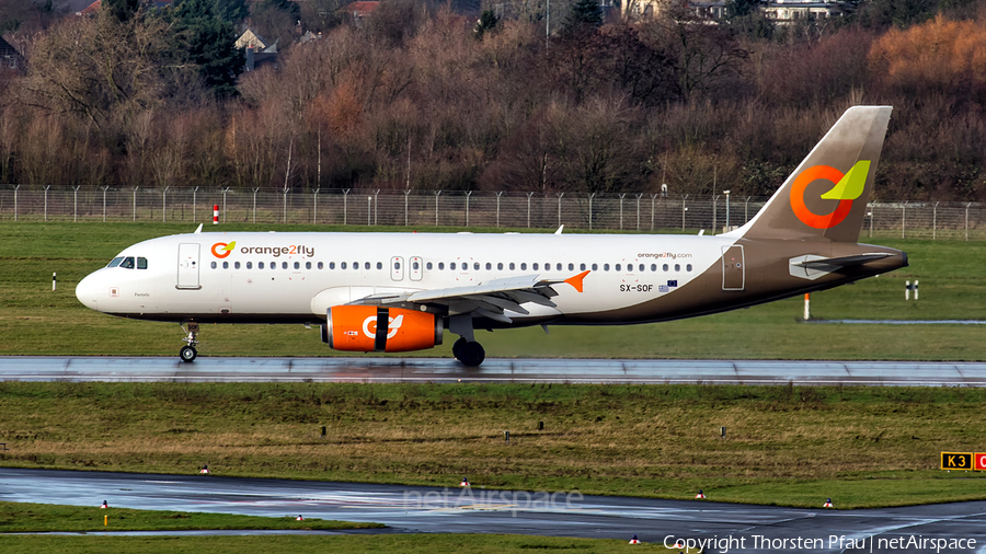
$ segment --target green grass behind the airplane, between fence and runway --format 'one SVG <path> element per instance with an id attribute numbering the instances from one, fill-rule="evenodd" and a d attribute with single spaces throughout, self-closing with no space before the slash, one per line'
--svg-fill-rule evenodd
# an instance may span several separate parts
<path id="1" fill-rule="evenodd" d="M 223 231 L 266 230 L 229 224 Z M 369 228 L 379 230 L 380 228 Z M 125 246 L 188 232 L 164 223 L 0 223 L 0 355 L 176 355 L 182 333 L 170 323 L 121 320 L 84 308 L 74 286 Z M 326 230 L 280 226 L 280 230 Z M 358 228 L 349 230 L 362 230 Z M 363 230 L 366 230 L 364 228 Z M 211 229 L 206 230 L 211 231 Z M 660 235 L 655 235 L 660 240 Z M 910 267 L 813 295 L 824 320 L 986 319 L 983 242 L 884 240 Z M 51 273 L 58 290 L 51 292 Z M 904 301 L 904 281 L 921 281 L 921 300 Z M 801 298 L 724 314 L 618 327 L 540 327 L 479 332 L 488 357 L 986 359 L 986 328 L 965 325 L 804 324 Z M 445 345 L 409 356 L 451 356 Z M 208 325 L 203 356 L 335 356 L 318 330 L 301 325 Z"/>

